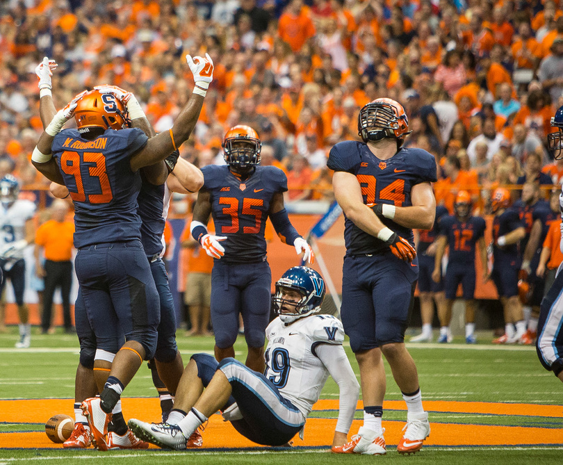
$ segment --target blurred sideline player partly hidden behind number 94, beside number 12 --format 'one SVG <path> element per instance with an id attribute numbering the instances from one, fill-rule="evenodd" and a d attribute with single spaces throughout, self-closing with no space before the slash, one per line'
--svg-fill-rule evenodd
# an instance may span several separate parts
<path id="1" fill-rule="evenodd" d="M 409 342 L 432 342 L 432 318 L 434 318 L 434 302 L 438 316 L 446 315 L 446 297 L 443 293 L 443 279 L 434 282 L 434 256 L 436 254 L 436 237 L 440 232 L 440 220 L 448 215 L 445 206 L 436 206 L 434 227 L 430 230 L 418 231 L 416 240 L 416 256 L 418 256 L 418 297 L 421 301 L 422 332 L 411 338 Z M 432 302 L 434 300 L 434 302 Z"/>

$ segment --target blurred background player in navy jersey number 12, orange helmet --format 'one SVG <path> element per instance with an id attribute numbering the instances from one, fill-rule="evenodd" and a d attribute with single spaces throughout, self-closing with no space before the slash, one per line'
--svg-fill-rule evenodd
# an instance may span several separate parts
<path id="1" fill-rule="evenodd" d="M 465 341 L 474 344 L 475 341 L 475 248 L 478 247 L 483 279 L 489 279 L 487 268 L 487 245 L 484 242 L 485 221 L 479 216 L 471 215 L 471 195 L 466 190 L 460 190 L 455 197 L 453 216 L 446 216 L 440 222 L 440 237 L 436 247 L 434 272 L 432 279 L 439 282 L 441 277 L 441 263 L 446 244 L 450 247 L 448 268 L 444 277 L 446 286 L 446 302 L 448 312 L 441 320 L 439 343 L 448 343 L 448 332 L 452 320 L 452 307 L 457 295 L 457 287 L 462 284 L 465 301 Z"/>

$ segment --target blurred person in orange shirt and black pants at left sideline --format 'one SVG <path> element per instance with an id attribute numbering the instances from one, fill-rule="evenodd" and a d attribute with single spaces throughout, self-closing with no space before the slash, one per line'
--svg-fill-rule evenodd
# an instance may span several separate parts
<path id="1" fill-rule="evenodd" d="M 41 315 L 42 334 L 47 334 L 51 327 L 56 288 L 60 288 L 60 296 L 63 300 L 65 332 L 67 334 L 74 332 L 70 318 L 74 222 L 67 220 L 68 211 L 67 202 L 56 199 L 51 206 L 51 220 L 44 222 L 35 232 L 35 273 L 45 280 Z M 41 262 L 43 254 L 44 266 Z"/>

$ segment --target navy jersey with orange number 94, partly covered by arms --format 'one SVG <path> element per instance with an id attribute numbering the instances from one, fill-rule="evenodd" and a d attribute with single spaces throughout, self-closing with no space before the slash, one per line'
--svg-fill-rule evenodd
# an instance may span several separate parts
<path id="1" fill-rule="evenodd" d="M 377 158 L 362 142 L 338 142 L 330 150 L 327 166 L 334 171 L 354 174 L 361 186 L 364 204 L 411 206 L 411 190 L 416 184 L 436 181 L 436 160 L 423 149 L 400 149 L 388 160 Z M 381 218 L 384 225 L 414 244 L 412 230 L 393 220 Z M 346 253 L 389 252 L 382 240 L 362 231 L 345 219 Z"/>

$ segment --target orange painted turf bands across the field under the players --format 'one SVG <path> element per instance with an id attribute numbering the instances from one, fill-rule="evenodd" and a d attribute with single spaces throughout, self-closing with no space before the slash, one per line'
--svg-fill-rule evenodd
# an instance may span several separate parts
<path id="1" fill-rule="evenodd" d="M 7 423 L 42 423 L 53 414 L 72 416 L 72 399 L 0 400 L 0 421 Z M 424 402 L 430 411 L 457 411 L 466 413 L 563 416 L 558 405 L 501 404 L 493 402 Z M 157 421 L 161 416 L 157 398 L 124 398 L 122 406 L 126 418 L 140 418 L 143 421 Z M 315 410 L 336 410 L 337 400 L 320 400 Z M 361 402 L 358 408 L 361 409 Z M 405 402 L 384 402 L 386 409 L 405 409 Z M 431 417 L 432 420 L 432 417 Z M 361 426 L 354 420 L 350 434 L 355 434 Z M 390 446 L 398 443 L 402 436 L 403 421 L 386 421 L 385 440 Z M 309 418 L 305 426 L 304 441 L 298 436 L 293 439 L 294 446 L 329 446 L 336 427 L 336 419 Z M 432 423 L 432 432 L 425 441 L 428 446 L 500 446 L 500 445 L 541 445 L 561 442 L 557 428 L 517 427 L 498 425 L 459 425 L 455 423 Z M 218 415 L 209 418 L 209 425 L 203 433 L 204 448 L 243 448 L 258 447 L 235 432 L 230 423 L 225 423 Z M 44 432 L 3 433 L 0 434 L 0 448 L 62 448 L 54 444 Z"/>

